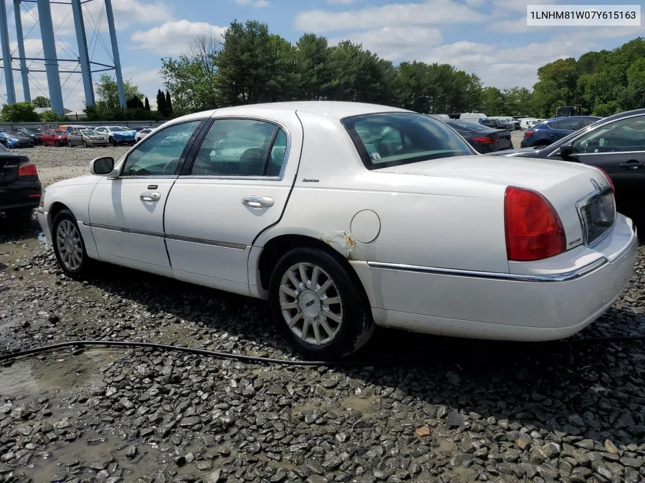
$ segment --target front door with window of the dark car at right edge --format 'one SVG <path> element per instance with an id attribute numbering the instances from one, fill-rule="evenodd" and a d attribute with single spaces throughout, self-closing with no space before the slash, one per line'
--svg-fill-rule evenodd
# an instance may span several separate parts
<path id="1" fill-rule="evenodd" d="M 604 169 L 616 189 L 616 209 L 645 224 L 645 115 L 620 118 L 571 144 L 581 163 Z M 642 228 L 641 228 L 642 229 Z"/>

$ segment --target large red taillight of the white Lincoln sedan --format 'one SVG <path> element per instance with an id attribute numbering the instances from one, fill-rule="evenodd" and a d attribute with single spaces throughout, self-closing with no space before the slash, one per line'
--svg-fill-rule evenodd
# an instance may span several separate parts
<path id="1" fill-rule="evenodd" d="M 566 250 L 560 217 L 553 205 L 535 191 L 506 188 L 504 225 L 508 260 L 542 260 Z"/>

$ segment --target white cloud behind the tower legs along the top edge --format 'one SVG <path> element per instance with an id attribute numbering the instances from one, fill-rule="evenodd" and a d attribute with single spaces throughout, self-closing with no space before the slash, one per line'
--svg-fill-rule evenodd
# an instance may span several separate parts
<path id="1" fill-rule="evenodd" d="M 35 4 L 22 3 L 23 10 L 21 19 L 23 30 L 28 32 L 37 23 L 38 13 Z M 33 6 L 32 6 L 33 5 Z M 74 15 L 70 5 L 52 3 L 52 23 L 57 35 L 64 36 L 74 34 Z M 172 19 L 170 7 L 162 0 L 112 0 L 112 11 L 114 12 L 115 28 L 118 30 L 126 28 L 134 23 L 159 23 Z M 13 17 L 14 15 L 10 15 Z M 91 1 L 83 4 L 83 23 L 88 35 L 88 43 L 93 36 L 95 28 L 101 32 L 107 32 L 108 22 L 105 18 L 104 5 L 101 1 Z M 36 27 L 34 31 L 37 31 Z M 109 37 L 105 37 L 109 44 Z"/>

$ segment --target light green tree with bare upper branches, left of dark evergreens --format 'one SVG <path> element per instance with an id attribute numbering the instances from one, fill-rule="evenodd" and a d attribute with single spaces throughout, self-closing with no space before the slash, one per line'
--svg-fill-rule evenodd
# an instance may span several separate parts
<path id="1" fill-rule="evenodd" d="M 175 100 L 176 114 L 203 111 L 221 105 L 217 87 L 217 55 L 222 44 L 214 37 L 196 37 L 189 43 L 188 53 L 177 59 L 161 59 L 161 77 Z M 157 106 L 164 106 L 157 93 Z M 172 107 L 172 106 L 171 106 Z M 165 112 L 165 107 L 159 108 Z"/>

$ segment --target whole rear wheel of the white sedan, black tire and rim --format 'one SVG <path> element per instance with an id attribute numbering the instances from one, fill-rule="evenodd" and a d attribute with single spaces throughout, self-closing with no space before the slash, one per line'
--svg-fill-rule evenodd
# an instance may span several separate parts
<path id="1" fill-rule="evenodd" d="M 346 357 L 373 334 L 372 311 L 359 283 L 320 249 L 284 254 L 271 275 L 269 301 L 278 327 L 308 358 Z"/>

